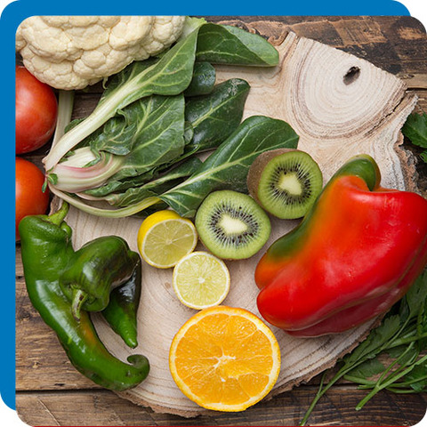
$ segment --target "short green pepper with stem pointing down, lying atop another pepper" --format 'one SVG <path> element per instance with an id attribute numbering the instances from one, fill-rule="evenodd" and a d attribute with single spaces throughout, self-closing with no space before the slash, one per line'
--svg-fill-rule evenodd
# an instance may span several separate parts
<path id="1" fill-rule="evenodd" d="M 104 310 L 111 290 L 129 280 L 139 263 L 140 255 L 117 236 L 95 238 L 72 254 L 60 275 L 60 288 L 72 302 L 75 318 L 81 309 Z"/>

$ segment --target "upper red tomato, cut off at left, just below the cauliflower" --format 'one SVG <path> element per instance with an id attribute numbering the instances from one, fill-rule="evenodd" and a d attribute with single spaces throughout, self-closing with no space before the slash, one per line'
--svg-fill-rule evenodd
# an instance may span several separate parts
<path id="1" fill-rule="evenodd" d="M 56 125 L 58 102 L 52 87 L 38 81 L 25 67 L 16 71 L 16 153 L 28 153 L 42 147 Z"/>

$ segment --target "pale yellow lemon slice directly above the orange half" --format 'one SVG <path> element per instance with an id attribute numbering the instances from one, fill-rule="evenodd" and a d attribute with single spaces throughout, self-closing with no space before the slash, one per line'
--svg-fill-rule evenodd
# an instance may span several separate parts
<path id="1" fill-rule="evenodd" d="M 207 252 L 184 256 L 173 269 L 173 289 L 187 307 L 202 310 L 221 304 L 230 290 L 225 263 Z"/>

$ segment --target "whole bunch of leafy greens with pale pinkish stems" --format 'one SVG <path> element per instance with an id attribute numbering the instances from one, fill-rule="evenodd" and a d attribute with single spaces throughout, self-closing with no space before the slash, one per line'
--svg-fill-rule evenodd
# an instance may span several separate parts
<path id="1" fill-rule="evenodd" d="M 238 49 L 230 63 L 261 66 L 277 63 L 278 52 L 261 36 L 188 18 L 180 39 L 172 48 L 157 58 L 133 62 L 111 77 L 93 113 L 84 120 L 74 121 L 65 134 L 55 138 L 51 152 L 44 158 L 53 194 L 85 212 L 110 217 L 148 212 L 150 206 L 162 203 L 181 212 L 185 209 L 178 205 L 189 204 L 185 214 L 194 214 L 200 195 L 182 200 L 186 189 L 181 189 L 180 185 L 194 172 L 196 162 L 185 162 L 182 167 L 192 165 L 185 173 L 173 167 L 200 151 L 215 149 L 223 141 L 229 141 L 228 137 L 243 117 L 249 91 L 249 85 L 238 78 L 214 86 L 216 77 L 211 63 L 196 62 L 197 46 L 205 45 L 206 40 L 200 37 L 200 30 L 205 27 L 205 36 L 209 31 L 215 32 L 211 41 L 220 42 L 216 48 L 224 48 L 224 58 L 230 53 L 227 49 Z M 215 49 L 213 52 L 218 53 Z M 293 146 L 293 143 L 296 146 L 297 136 L 290 126 L 281 125 L 286 128 L 282 134 L 285 145 L 282 145 L 278 136 L 272 136 L 274 125 L 265 125 L 272 119 L 262 117 L 259 120 L 258 125 L 263 129 L 256 137 L 266 141 L 265 147 L 257 151 L 252 138 L 252 133 L 256 132 L 250 129 L 251 136 L 245 145 L 253 156 L 248 158 L 254 159 L 265 149 Z M 247 122 L 242 132 L 249 123 L 254 125 L 254 122 Z M 288 142 L 290 145 L 286 145 Z M 251 144 L 255 147 L 253 152 Z M 243 147 L 236 146 L 236 158 L 245 154 Z M 218 151 L 215 167 L 229 160 L 230 166 L 233 165 L 234 158 L 224 156 L 226 150 Z M 207 165 L 210 162 L 211 158 Z M 213 174 L 208 179 L 204 174 L 198 178 L 204 183 L 204 191 L 214 189 L 215 181 L 236 188 L 246 179 L 242 172 L 247 172 L 245 168 L 246 164 L 236 171 L 230 167 L 229 175 L 225 172 L 229 169 L 226 165 L 224 172 L 218 175 Z M 106 209 L 97 202 L 108 202 L 117 209 Z"/>

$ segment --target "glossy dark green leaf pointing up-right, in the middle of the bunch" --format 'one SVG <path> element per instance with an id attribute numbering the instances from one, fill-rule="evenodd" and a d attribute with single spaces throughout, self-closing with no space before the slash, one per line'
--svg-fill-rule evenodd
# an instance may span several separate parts
<path id="1" fill-rule="evenodd" d="M 185 119 L 193 135 L 186 153 L 214 149 L 238 128 L 243 117 L 250 86 L 245 80 L 231 78 L 205 96 L 190 98 L 185 104 Z"/>

